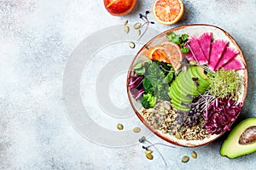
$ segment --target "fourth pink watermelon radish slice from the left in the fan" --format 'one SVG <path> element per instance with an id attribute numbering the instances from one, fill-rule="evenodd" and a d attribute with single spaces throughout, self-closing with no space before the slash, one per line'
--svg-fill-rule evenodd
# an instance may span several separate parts
<path id="1" fill-rule="evenodd" d="M 227 47 L 224 50 L 224 54 L 223 54 L 221 60 L 218 62 L 216 70 L 219 70 L 225 64 L 229 63 L 232 59 L 234 59 L 236 57 L 237 54 L 239 54 L 239 52 L 236 49 Z"/>

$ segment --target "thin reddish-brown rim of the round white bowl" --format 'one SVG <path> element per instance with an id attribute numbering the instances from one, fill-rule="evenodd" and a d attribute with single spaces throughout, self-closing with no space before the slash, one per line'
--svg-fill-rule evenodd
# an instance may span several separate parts
<path id="1" fill-rule="evenodd" d="M 207 25 L 207 24 L 190 24 L 190 25 L 183 25 L 183 26 L 177 26 L 177 27 L 173 27 L 171 29 L 168 29 L 166 31 L 162 31 L 160 32 L 160 34 L 158 34 L 157 36 L 151 38 L 147 43 L 145 43 L 143 45 L 142 48 L 140 48 L 140 50 L 137 52 L 137 54 L 135 55 L 135 57 L 132 59 L 131 61 L 131 65 L 129 67 L 129 71 L 128 71 L 128 74 L 127 74 L 127 78 L 126 78 L 126 90 L 127 90 L 127 94 L 128 94 L 128 99 L 130 101 L 130 104 L 131 104 L 131 107 L 133 109 L 133 111 L 135 111 L 137 117 L 140 119 L 141 122 L 143 122 L 143 124 L 148 127 L 148 129 L 156 134 L 158 137 L 160 137 L 160 139 L 163 139 L 165 140 L 166 142 L 169 142 L 171 144 L 175 144 L 175 145 L 179 145 L 179 146 L 183 146 L 183 147 L 198 147 L 198 146 L 202 146 L 202 145 L 205 145 L 205 144 L 210 144 L 212 143 L 214 140 L 218 139 L 220 136 L 222 136 L 226 131 L 222 132 L 222 133 L 219 133 L 219 134 L 216 134 L 214 138 L 212 139 L 209 139 L 205 142 L 201 142 L 200 144 L 191 144 L 191 142 L 189 142 L 189 140 L 186 141 L 185 144 L 182 144 L 179 141 L 179 139 L 177 139 L 177 141 L 173 141 L 172 139 L 170 138 L 167 138 L 165 135 L 163 135 L 164 133 L 161 133 L 160 131 L 157 131 L 155 130 L 153 127 L 151 127 L 149 125 L 149 123 L 144 119 L 144 117 L 139 113 L 139 111 L 137 111 L 136 109 L 136 106 L 133 104 L 132 102 L 132 96 L 131 96 L 131 93 L 130 93 L 130 88 L 129 88 L 129 80 L 130 80 L 130 77 L 131 77 L 131 71 L 132 71 L 132 67 L 137 59 L 137 57 L 139 56 L 139 54 L 142 52 L 143 48 L 145 48 L 148 44 L 150 44 L 151 42 L 154 42 L 155 39 L 159 38 L 159 37 L 162 37 L 164 34 L 166 34 L 167 32 L 171 32 L 171 31 L 177 31 L 177 30 L 181 30 L 181 29 L 184 29 L 184 28 L 187 28 L 187 27 L 193 27 L 193 26 L 209 26 L 209 27 L 213 27 L 213 28 L 216 28 L 218 29 L 219 31 L 222 31 L 224 32 L 224 35 L 226 37 L 229 38 L 229 40 L 236 46 L 236 49 L 239 51 L 239 54 L 241 55 L 241 61 L 243 62 L 244 66 L 245 66 L 245 69 L 243 69 L 243 74 L 244 74 L 244 89 L 243 89 L 243 96 L 241 98 L 241 107 L 243 107 L 244 105 L 244 102 L 245 102 L 245 99 L 246 99 L 246 96 L 247 96 L 247 85 L 248 85 L 248 82 L 247 82 L 247 78 L 248 78 L 248 74 L 247 74 L 247 62 L 244 58 L 244 55 L 241 51 L 241 48 L 240 46 L 238 45 L 238 43 L 236 42 L 236 40 L 230 36 L 230 34 L 227 32 L 227 31 L 224 31 L 224 29 L 218 27 L 218 26 L 212 26 L 212 25 Z M 238 116 L 240 115 L 241 111 L 239 112 Z M 236 116 L 236 119 L 237 119 L 237 116 Z M 236 122 L 236 120 L 234 121 Z M 230 126 L 234 123 L 232 122 L 230 124 Z M 195 141 L 195 140 L 194 140 Z M 201 140 L 203 141 L 203 140 Z"/>

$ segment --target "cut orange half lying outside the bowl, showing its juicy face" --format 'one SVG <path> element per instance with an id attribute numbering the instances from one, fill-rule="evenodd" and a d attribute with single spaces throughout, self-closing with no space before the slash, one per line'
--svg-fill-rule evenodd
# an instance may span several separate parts
<path id="1" fill-rule="evenodd" d="M 183 12 L 181 0 L 156 0 L 153 5 L 155 20 L 168 26 L 177 23 L 182 18 Z"/>

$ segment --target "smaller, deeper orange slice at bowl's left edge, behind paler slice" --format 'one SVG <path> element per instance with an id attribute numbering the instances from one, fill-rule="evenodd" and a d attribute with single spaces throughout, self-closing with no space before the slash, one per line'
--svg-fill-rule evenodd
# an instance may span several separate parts
<path id="1" fill-rule="evenodd" d="M 171 63 L 163 47 L 152 48 L 148 54 L 149 59 Z"/>

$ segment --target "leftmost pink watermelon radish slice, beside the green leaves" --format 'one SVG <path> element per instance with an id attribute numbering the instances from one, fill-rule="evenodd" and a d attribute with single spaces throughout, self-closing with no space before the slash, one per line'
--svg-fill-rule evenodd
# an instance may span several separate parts
<path id="1" fill-rule="evenodd" d="M 188 47 L 191 53 L 195 55 L 195 60 L 198 62 L 198 64 L 206 65 L 208 63 L 196 37 L 189 37 Z"/>

